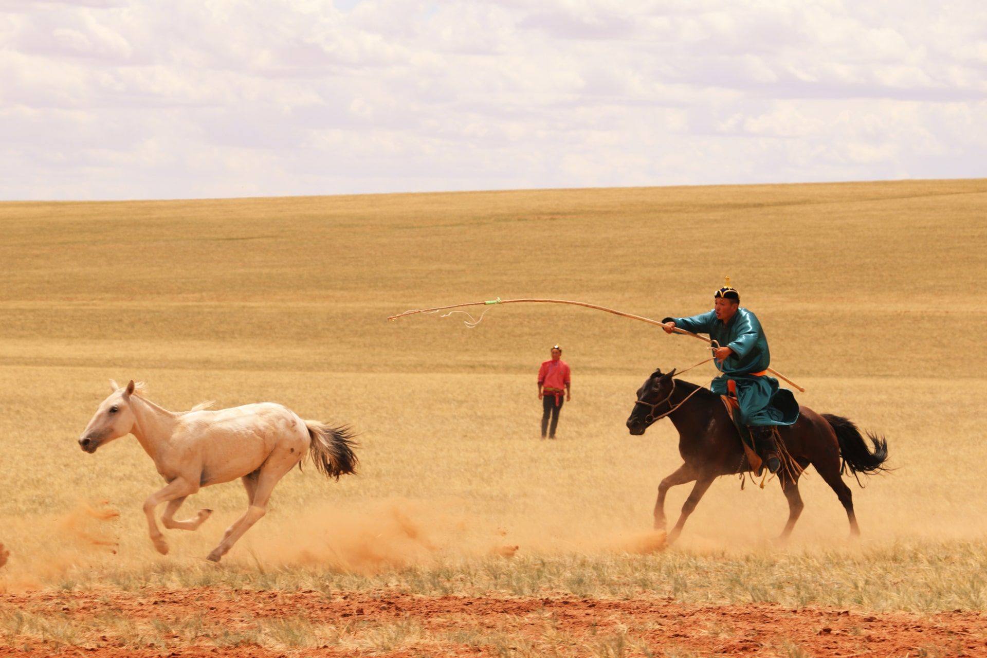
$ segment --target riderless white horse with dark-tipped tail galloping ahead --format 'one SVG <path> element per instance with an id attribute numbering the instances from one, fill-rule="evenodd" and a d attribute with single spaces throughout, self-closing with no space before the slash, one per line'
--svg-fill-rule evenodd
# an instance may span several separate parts
<path id="1" fill-rule="evenodd" d="M 274 484 L 308 452 L 316 468 L 328 477 L 355 473 L 353 435 L 345 427 L 330 427 L 315 420 L 302 420 L 288 408 L 273 402 L 244 404 L 217 411 L 203 402 L 190 411 L 169 411 L 143 397 L 143 384 L 133 380 L 100 404 L 96 415 L 79 437 L 79 446 L 95 453 L 100 446 L 127 434 L 137 437 L 154 460 L 158 473 L 168 484 L 144 501 L 144 514 L 151 541 L 162 554 L 168 552 L 155 508 L 168 507 L 161 517 L 165 528 L 195 530 L 212 514 L 201 509 L 195 518 L 176 521 L 175 512 L 186 497 L 200 486 L 242 478 L 250 507 L 226 529 L 209 559 L 219 558 L 264 516 Z"/>

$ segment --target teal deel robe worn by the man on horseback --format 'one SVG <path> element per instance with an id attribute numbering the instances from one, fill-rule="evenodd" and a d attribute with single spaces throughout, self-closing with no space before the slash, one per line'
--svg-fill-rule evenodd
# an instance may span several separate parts
<path id="1" fill-rule="evenodd" d="M 717 320 L 716 311 L 691 318 L 665 318 L 661 322 L 674 322 L 675 327 L 693 333 L 709 333 L 721 347 L 733 350 L 722 363 L 714 360 L 723 374 L 713 380 L 710 390 L 725 396 L 727 380 L 736 382 L 738 420 L 742 424 L 791 425 L 798 419 L 798 402 L 791 391 L 780 388 L 774 377 L 751 375 L 767 370 L 771 364 L 768 338 L 753 313 L 738 308 L 725 325 Z"/>

